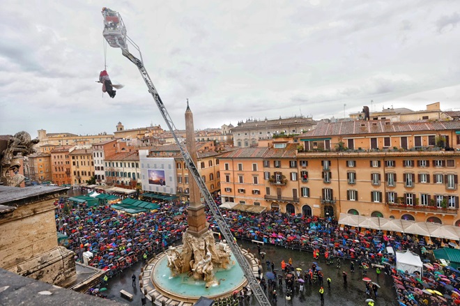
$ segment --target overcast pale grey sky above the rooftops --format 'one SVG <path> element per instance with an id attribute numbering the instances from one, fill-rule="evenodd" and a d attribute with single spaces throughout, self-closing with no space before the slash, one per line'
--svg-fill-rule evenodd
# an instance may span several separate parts
<path id="1" fill-rule="evenodd" d="M 160 124 L 146 85 L 107 47 L 118 10 L 177 128 L 247 118 L 348 116 L 363 105 L 460 107 L 460 1 L 15 1 L 0 10 L 0 134 L 111 133 Z M 135 54 L 135 49 L 130 48 Z M 135 54 L 136 55 L 136 54 Z M 373 101 L 373 102 L 371 102 Z"/>

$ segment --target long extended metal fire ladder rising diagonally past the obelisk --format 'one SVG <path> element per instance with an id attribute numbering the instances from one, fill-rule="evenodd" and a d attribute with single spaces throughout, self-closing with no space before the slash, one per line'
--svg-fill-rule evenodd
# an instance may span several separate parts
<path id="1" fill-rule="evenodd" d="M 118 40 L 120 39 L 123 39 L 123 38 L 116 38 L 118 47 L 121 48 L 123 56 L 127 57 L 132 63 L 134 63 L 139 69 L 139 72 L 141 72 L 141 76 L 144 79 L 144 82 L 146 82 L 146 85 L 148 87 L 148 92 L 151 93 L 153 100 L 155 100 L 158 106 L 158 109 L 160 109 L 160 113 L 162 114 L 164 121 L 168 125 L 169 131 L 173 135 L 174 140 L 176 141 L 176 144 L 181 150 L 181 154 L 183 156 L 185 164 L 187 165 L 187 168 L 192 174 L 194 180 L 197 182 L 198 188 L 204 197 L 204 201 L 206 201 L 206 205 L 208 206 L 210 212 L 213 214 L 214 220 L 217 222 L 217 225 L 219 226 L 220 231 L 224 235 L 224 238 L 227 239 L 230 250 L 231 252 L 233 252 L 233 255 L 235 256 L 236 261 L 238 261 L 238 263 L 240 264 L 241 270 L 243 270 L 243 273 L 245 273 L 245 277 L 247 278 L 247 282 L 250 285 L 252 293 L 254 294 L 255 298 L 259 302 L 259 305 L 261 306 L 270 305 L 270 301 L 268 300 L 265 293 L 263 293 L 263 290 L 259 284 L 259 281 L 256 280 L 256 277 L 254 276 L 254 273 L 252 271 L 250 264 L 245 259 L 245 256 L 243 255 L 240 248 L 238 247 L 238 244 L 234 241 L 233 234 L 231 233 L 229 227 L 227 227 L 227 223 L 225 222 L 224 217 L 222 217 L 222 214 L 220 213 L 219 208 L 217 208 L 217 204 L 215 204 L 213 196 L 210 194 L 208 188 L 206 187 L 206 184 L 201 179 L 201 176 L 198 172 L 197 167 L 194 165 L 194 162 L 192 160 L 192 157 L 190 156 L 190 153 L 188 153 L 187 148 L 185 148 L 184 146 L 183 139 L 176 135 L 176 132 L 175 132 L 177 130 L 176 126 L 174 125 L 171 119 L 171 116 L 169 116 L 167 109 L 164 106 L 160 98 L 160 95 L 158 94 L 158 91 L 155 89 L 155 86 L 153 86 L 153 82 L 151 81 L 150 77 L 148 76 L 147 70 L 144 67 L 144 61 L 142 60 L 141 50 L 128 36 L 125 36 L 125 39 L 128 40 L 128 42 L 131 43 L 137 49 L 137 52 L 139 52 L 139 56 L 140 56 L 140 60 L 139 60 L 128 51 L 128 45 L 126 44 L 125 41 L 122 43 L 119 43 Z"/>

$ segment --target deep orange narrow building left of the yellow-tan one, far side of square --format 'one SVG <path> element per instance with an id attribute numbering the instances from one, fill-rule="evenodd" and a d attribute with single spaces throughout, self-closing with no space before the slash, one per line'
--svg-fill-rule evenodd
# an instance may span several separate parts
<path id="1" fill-rule="evenodd" d="M 70 151 L 72 146 L 55 146 L 51 151 L 52 181 L 59 186 L 72 185 Z"/>

